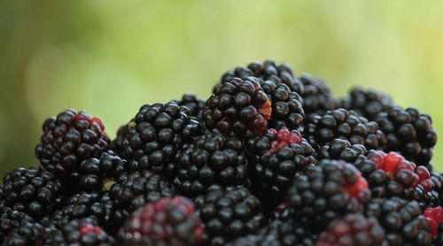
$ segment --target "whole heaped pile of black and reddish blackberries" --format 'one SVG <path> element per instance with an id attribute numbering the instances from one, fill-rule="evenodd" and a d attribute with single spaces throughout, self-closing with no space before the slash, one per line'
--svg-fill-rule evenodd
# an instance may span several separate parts
<path id="1" fill-rule="evenodd" d="M 46 119 L 40 165 L 0 187 L 1 245 L 443 245 L 431 116 L 375 90 L 331 95 L 273 60 L 206 100 Z"/>

